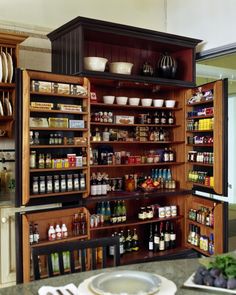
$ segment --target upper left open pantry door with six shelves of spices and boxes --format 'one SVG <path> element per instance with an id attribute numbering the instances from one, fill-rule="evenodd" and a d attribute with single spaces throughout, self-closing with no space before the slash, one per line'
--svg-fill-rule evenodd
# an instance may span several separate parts
<path id="1" fill-rule="evenodd" d="M 22 203 L 86 197 L 89 82 L 23 71 Z"/>

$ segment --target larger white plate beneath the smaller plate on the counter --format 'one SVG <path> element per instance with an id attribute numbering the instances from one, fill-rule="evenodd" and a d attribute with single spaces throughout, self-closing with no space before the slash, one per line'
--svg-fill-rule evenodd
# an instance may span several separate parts
<path id="1" fill-rule="evenodd" d="M 125 271 L 127 272 L 127 271 Z M 129 272 L 135 272 L 135 271 L 129 271 Z M 93 280 L 95 280 L 96 278 L 99 278 L 101 275 L 104 275 L 104 276 L 108 276 L 110 272 L 106 272 L 106 273 L 103 273 L 103 274 L 99 274 L 99 275 L 95 275 L 95 276 L 92 276 L 86 280 L 84 280 L 78 287 L 78 293 L 79 294 L 86 294 L 86 295 L 98 295 L 99 293 L 94 293 L 94 291 L 92 291 L 91 289 L 91 282 Z M 140 272 L 139 272 L 140 273 Z M 141 272 L 141 273 L 144 273 L 144 272 Z M 153 278 L 157 278 L 158 281 L 160 281 L 160 286 L 157 288 L 158 290 L 155 292 L 155 293 L 152 293 L 152 295 L 174 295 L 177 291 L 177 287 L 175 285 L 174 282 L 166 279 L 165 277 L 162 277 L 162 276 L 159 276 L 159 275 L 156 275 L 156 274 L 153 274 L 153 273 L 145 273 L 147 275 L 151 275 L 151 277 Z M 113 295 L 115 294 L 114 292 L 113 293 L 102 293 L 103 295 L 104 294 L 107 294 L 107 295 Z M 127 295 L 129 293 L 122 293 L 124 295 Z M 138 294 L 146 294 L 146 293 L 135 293 L 135 295 L 138 295 Z"/>

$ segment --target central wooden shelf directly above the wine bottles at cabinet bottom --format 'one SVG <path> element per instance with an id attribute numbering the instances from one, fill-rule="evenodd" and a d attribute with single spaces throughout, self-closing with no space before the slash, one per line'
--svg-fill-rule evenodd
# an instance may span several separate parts
<path id="1" fill-rule="evenodd" d="M 161 222 L 161 221 L 167 221 L 167 220 L 176 220 L 181 218 L 183 218 L 182 215 L 169 217 L 169 218 L 152 218 L 152 219 L 146 219 L 146 220 L 133 219 L 133 220 L 128 220 L 126 222 L 116 223 L 116 224 L 106 223 L 106 224 L 103 224 L 102 226 L 92 227 L 90 228 L 90 231 L 107 230 L 107 229 L 127 227 L 127 226 L 138 226 L 142 224 L 149 224 L 149 223 Z"/>

